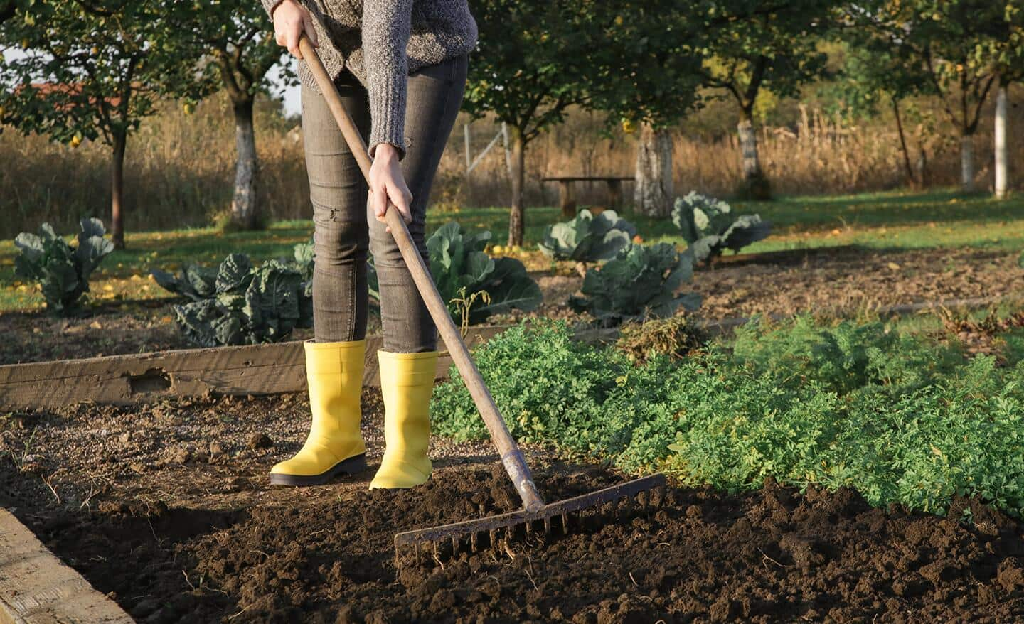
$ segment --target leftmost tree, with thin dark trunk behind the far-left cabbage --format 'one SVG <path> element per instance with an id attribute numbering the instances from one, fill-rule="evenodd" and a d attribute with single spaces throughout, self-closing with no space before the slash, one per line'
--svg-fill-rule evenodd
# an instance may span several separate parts
<path id="1" fill-rule="evenodd" d="M 25 6 L 30 8 L 25 8 Z M 155 113 L 162 95 L 195 95 L 172 37 L 164 2 L 94 0 L 15 5 L 0 26 L 0 45 L 20 45 L 22 58 L 0 68 L 2 121 L 23 133 L 45 133 L 78 146 L 111 147 L 111 233 L 124 248 L 124 160 L 128 136 Z"/>

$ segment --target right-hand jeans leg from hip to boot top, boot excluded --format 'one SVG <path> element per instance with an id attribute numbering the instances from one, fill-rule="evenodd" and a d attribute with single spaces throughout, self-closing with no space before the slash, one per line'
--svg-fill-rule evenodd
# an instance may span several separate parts
<path id="1" fill-rule="evenodd" d="M 466 87 L 466 56 L 428 65 L 409 77 L 406 107 L 408 146 L 401 171 L 413 193 L 409 232 L 424 260 L 427 199 Z M 418 353 L 437 348 L 437 330 L 385 225 L 367 211 L 370 250 L 380 282 L 384 350 Z M 427 263 L 429 267 L 429 262 Z"/>

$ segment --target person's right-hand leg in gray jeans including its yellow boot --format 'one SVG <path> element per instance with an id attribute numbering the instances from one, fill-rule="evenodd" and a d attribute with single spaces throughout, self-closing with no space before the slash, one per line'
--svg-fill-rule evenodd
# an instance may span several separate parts
<path id="1" fill-rule="evenodd" d="M 462 105 L 466 56 L 424 68 L 409 78 L 402 174 L 413 193 L 409 231 L 424 260 L 427 199 L 441 152 Z M 371 488 L 411 488 L 432 470 L 430 394 L 437 367 L 437 330 L 394 242 L 368 210 L 370 247 L 380 282 L 384 349 L 378 352 L 384 399 L 384 457 Z M 429 267 L 429 263 L 427 265 Z"/>

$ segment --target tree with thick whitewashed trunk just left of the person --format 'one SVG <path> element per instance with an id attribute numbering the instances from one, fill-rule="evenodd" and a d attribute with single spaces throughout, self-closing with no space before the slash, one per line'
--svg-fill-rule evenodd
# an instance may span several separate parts
<path id="1" fill-rule="evenodd" d="M 194 0 L 172 3 L 177 35 L 184 37 L 199 59 L 197 91 L 223 87 L 234 114 L 234 193 L 231 222 L 254 229 L 261 220 L 256 192 L 259 160 L 253 125 L 256 93 L 268 86 L 266 75 L 281 61 L 284 50 L 273 40 L 273 25 L 259 2 L 252 0 Z M 290 77 L 294 78 L 294 77 Z"/>

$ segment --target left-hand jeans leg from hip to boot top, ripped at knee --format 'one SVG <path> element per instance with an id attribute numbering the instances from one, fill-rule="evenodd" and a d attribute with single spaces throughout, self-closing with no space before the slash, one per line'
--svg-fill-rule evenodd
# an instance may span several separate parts
<path id="1" fill-rule="evenodd" d="M 347 80 L 346 80 L 347 78 Z M 345 109 L 370 134 L 366 89 L 347 72 L 337 81 Z M 302 135 L 313 205 L 313 335 L 316 342 L 367 335 L 367 183 L 327 100 L 302 86 Z"/>

